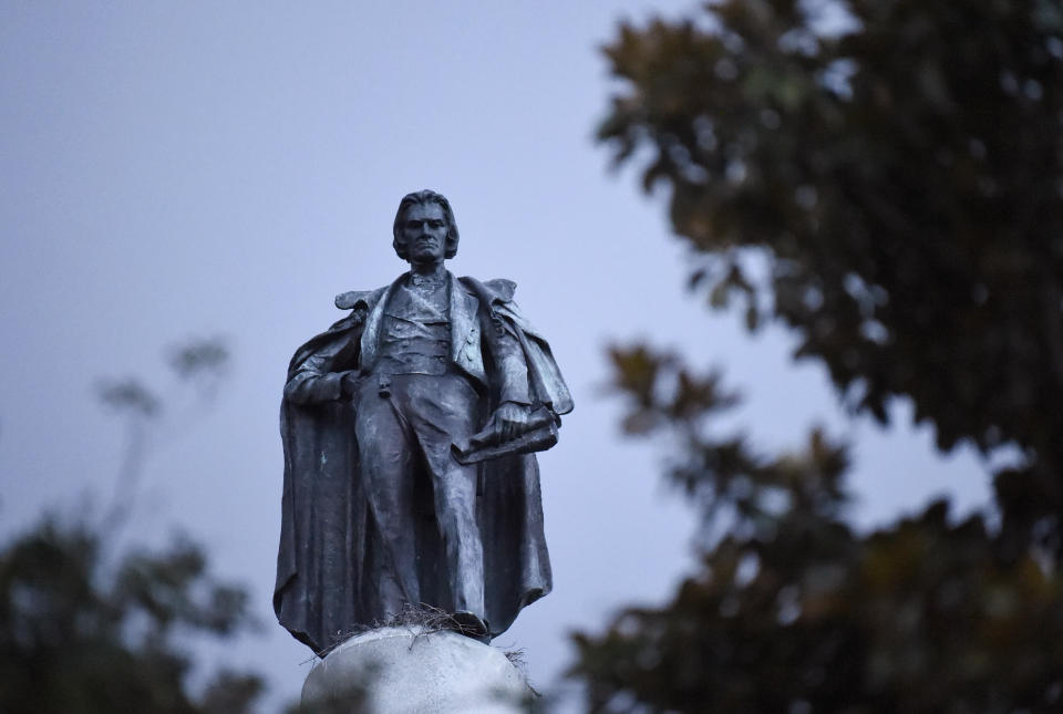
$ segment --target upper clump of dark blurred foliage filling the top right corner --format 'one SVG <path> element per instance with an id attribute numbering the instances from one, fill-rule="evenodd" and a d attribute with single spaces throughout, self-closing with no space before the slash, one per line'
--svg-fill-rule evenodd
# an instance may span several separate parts
<path id="1" fill-rule="evenodd" d="M 855 408 L 1018 447 L 1009 525 L 1063 547 L 1063 6 L 714 2 L 606 53 L 599 137 L 670 190 L 692 283 Z"/>

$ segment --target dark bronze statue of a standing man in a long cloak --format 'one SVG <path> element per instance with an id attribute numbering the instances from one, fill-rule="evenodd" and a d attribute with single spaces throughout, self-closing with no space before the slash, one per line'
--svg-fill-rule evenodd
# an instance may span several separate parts
<path id="1" fill-rule="evenodd" d="M 515 284 L 444 268 L 457 241 L 446 198 L 405 196 L 410 271 L 338 296 L 289 366 L 274 608 L 317 653 L 422 606 L 489 641 L 550 590 L 532 452 L 571 396 Z"/>

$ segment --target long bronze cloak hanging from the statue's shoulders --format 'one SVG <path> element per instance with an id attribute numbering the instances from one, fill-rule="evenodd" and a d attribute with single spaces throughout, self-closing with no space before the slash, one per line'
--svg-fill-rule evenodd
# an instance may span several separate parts
<path id="1" fill-rule="evenodd" d="M 571 397 L 549 345 L 512 301 L 514 284 L 452 278 L 451 290 L 472 300 L 475 314 L 471 317 L 485 340 L 489 330 L 519 331 L 529 393 L 556 414 L 571 411 Z M 360 345 L 365 344 L 364 338 L 374 338 L 363 334 L 373 322 L 367 315 L 372 317 L 389 292 L 382 288 L 337 298 L 337 306 L 353 308 L 352 313 L 296 352 L 281 403 L 285 483 L 274 610 L 297 640 L 319 654 L 388 617 L 375 594 L 385 558 L 359 474 L 358 405 L 336 399 L 339 379 L 334 373 L 358 368 Z M 491 383 L 499 368 L 492 364 L 489 350 L 484 353 Z M 299 395 L 309 389 L 310 382 L 305 381 L 309 374 L 317 377 L 313 400 Z M 476 415 L 481 422 L 498 399 L 494 385 L 487 386 Z M 476 510 L 484 549 L 485 609 L 495 637 L 509 628 L 522 608 L 550 591 L 551 573 L 535 456 L 503 456 L 478 468 Z M 447 561 L 426 483 L 421 486 L 415 511 L 410 519 L 416 529 L 422 598 L 427 604 L 448 609 Z"/>

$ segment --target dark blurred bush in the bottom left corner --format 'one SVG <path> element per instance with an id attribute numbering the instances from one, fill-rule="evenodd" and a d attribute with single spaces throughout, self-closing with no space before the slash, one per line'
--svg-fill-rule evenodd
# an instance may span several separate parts
<path id="1" fill-rule="evenodd" d="M 247 629 L 247 594 L 179 540 L 116 568 L 87 525 L 45 519 L 0 551 L 0 711 L 241 714 L 262 689 L 223 671 L 189 693 L 179 641 Z"/>

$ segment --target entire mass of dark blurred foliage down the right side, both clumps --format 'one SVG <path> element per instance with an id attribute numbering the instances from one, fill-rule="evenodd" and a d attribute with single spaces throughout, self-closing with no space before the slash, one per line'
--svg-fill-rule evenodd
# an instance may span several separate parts
<path id="1" fill-rule="evenodd" d="M 668 604 L 577 635 L 590 708 L 1063 711 L 1063 6 L 721 0 L 606 53 L 599 137 L 668 189 L 710 304 L 786 325 L 856 413 L 1019 456 L 990 524 L 857 532 L 845 445 L 758 454 L 719 374 L 613 350 L 702 527 Z"/>

